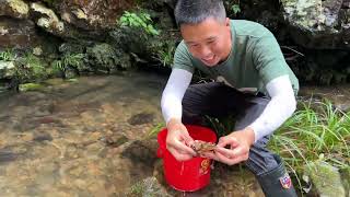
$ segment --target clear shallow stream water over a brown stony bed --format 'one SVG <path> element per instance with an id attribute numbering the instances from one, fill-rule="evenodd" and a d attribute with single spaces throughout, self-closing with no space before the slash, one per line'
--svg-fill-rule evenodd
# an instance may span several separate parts
<path id="1" fill-rule="evenodd" d="M 156 140 L 148 138 L 162 121 L 165 82 L 150 73 L 52 79 L 37 91 L 1 94 L 0 196 L 122 196 L 150 176 L 182 196 L 166 187 Z M 191 194 L 217 195 L 262 196 L 250 173 L 224 166 Z"/>

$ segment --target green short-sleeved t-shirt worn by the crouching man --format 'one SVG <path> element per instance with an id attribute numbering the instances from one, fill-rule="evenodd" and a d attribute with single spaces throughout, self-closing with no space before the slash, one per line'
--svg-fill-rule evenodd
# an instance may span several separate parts
<path id="1" fill-rule="evenodd" d="M 211 79 L 223 78 L 238 90 L 253 90 L 267 95 L 266 84 L 277 77 L 288 74 L 296 95 L 299 81 L 269 30 L 255 22 L 231 20 L 231 33 L 232 49 L 225 61 L 208 67 L 189 53 L 183 40 L 176 48 L 173 68 L 191 73 L 197 68 Z"/>

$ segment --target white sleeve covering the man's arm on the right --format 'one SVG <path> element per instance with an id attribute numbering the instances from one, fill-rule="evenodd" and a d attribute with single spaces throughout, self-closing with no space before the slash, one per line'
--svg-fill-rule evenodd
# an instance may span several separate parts
<path id="1" fill-rule="evenodd" d="M 296 101 L 289 76 L 281 76 L 269 83 L 266 89 L 271 96 L 262 114 L 248 127 L 254 130 L 255 141 L 270 135 L 280 127 L 295 111 Z"/>

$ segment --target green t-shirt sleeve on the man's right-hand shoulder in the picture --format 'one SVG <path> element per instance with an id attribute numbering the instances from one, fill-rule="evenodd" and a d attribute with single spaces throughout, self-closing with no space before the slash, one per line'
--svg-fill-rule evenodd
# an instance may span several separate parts
<path id="1" fill-rule="evenodd" d="M 272 33 L 257 38 L 253 47 L 253 62 L 264 85 L 278 77 L 289 74 L 289 66 Z"/>

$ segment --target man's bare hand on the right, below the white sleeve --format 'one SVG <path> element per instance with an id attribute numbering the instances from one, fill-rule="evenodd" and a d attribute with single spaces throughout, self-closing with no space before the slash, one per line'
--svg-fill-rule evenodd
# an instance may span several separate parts
<path id="1" fill-rule="evenodd" d="M 248 160 L 249 149 L 255 141 L 254 130 L 245 128 L 221 137 L 214 153 L 205 153 L 205 157 L 233 165 Z"/>

